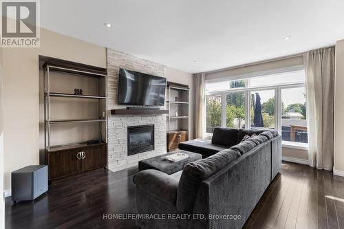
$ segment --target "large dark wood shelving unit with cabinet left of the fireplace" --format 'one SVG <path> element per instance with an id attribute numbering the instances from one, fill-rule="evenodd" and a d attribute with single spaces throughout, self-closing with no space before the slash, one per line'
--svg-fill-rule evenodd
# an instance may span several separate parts
<path id="1" fill-rule="evenodd" d="M 45 164 L 48 165 L 49 180 L 52 181 L 76 173 L 105 167 L 107 165 L 107 69 L 63 61 L 46 56 L 39 56 L 39 58 L 41 62 L 44 62 Z M 50 74 L 53 75 L 53 73 L 54 76 L 50 76 Z M 51 91 L 54 83 L 59 83 L 58 85 L 61 85 L 61 82 L 63 82 L 61 81 L 61 77 L 65 76 L 72 77 L 73 82 L 77 82 L 76 87 L 79 87 L 79 85 L 82 87 L 81 85 L 85 85 L 86 83 L 87 86 L 91 85 L 91 87 L 98 87 L 98 89 L 96 89 L 98 94 L 95 93 L 95 90 L 88 91 L 89 94 L 72 94 L 64 89 L 58 91 L 59 88 L 57 88 L 57 91 Z M 55 80 L 53 81 L 51 77 L 55 77 Z M 94 82 L 96 82 L 95 85 L 92 84 Z M 87 92 L 87 89 L 85 92 Z M 63 100 L 52 100 L 52 97 L 63 98 Z M 85 99 L 92 99 L 92 102 L 98 102 L 98 105 L 95 106 L 97 110 L 96 113 L 98 113 L 97 116 L 92 114 L 89 115 L 89 117 L 83 116 L 83 118 L 81 118 L 80 116 L 79 119 L 67 117 L 52 118 L 50 109 L 56 106 L 56 102 L 66 104 L 67 102 L 73 101 L 78 105 L 89 102 Z M 65 113 L 69 112 L 68 107 L 64 109 Z M 80 112 L 83 111 L 80 110 Z M 62 142 L 63 144 L 60 144 L 61 142 L 52 144 L 52 132 L 54 132 L 52 126 L 57 129 L 66 130 L 67 128 L 67 130 L 69 130 L 68 128 L 71 126 L 77 129 L 85 127 L 87 123 L 92 122 L 98 127 L 97 129 L 91 130 L 96 131 L 93 133 L 95 133 L 94 135 L 98 135 L 98 139 L 93 139 L 93 137 L 90 137 L 92 139 L 80 138 L 80 141 L 76 139 L 76 142 L 68 142 L 68 140 L 65 139 Z M 56 131 L 56 129 L 54 130 Z M 80 132 L 80 135 L 82 136 L 83 133 Z M 90 140 L 99 140 L 100 142 L 87 144 Z"/>

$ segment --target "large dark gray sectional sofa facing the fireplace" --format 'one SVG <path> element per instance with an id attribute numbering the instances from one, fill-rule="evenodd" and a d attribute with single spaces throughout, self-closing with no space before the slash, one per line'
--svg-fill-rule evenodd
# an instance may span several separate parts
<path id="1" fill-rule="evenodd" d="M 241 142 L 246 134 L 252 133 L 257 136 Z M 281 136 L 277 131 L 223 128 L 216 128 L 214 135 L 212 141 L 203 142 L 198 149 L 197 140 L 184 143 L 182 147 L 188 148 L 182 149 L 207 157 L 190 162 L 182 171 L 167 175 L 145 170 L 133 177 L 137 213 L 160 216 L 137 218 L 140 228 L 244 226 L 279 173 Z"/>

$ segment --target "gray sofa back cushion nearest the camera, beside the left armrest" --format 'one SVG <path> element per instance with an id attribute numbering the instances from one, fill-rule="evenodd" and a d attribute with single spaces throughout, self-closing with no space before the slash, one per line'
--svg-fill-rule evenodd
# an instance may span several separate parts
<path id="1" fill-rule="evenodd" d="M 240 154 L 237 151 L 225 149 L 208 158 L 187 164 L 178 185 L 178 210 L 192 212 L 201 182 L 238 157 Z"/>

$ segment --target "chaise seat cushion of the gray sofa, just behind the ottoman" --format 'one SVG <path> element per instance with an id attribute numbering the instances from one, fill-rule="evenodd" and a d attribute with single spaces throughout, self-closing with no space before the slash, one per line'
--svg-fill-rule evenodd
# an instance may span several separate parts
<path id="1" fill-rule="evenodd" d="M 187 142 L 182 142 L 178 145 L 179 149 L 182 149 L 184 151 L 190 151 L 193 153 L 200 153 L 202 154 L 203 158 L 206 158 L 210 155 L 214 155 L 215 153 L 218 153 L 219 151 L 222 151 L 224 149 L 227 149 L 226 146 L 220 146 L 217 144 L 211 144 L 210 140 L 204 140 L 204 139 L 194 139 Z"/>

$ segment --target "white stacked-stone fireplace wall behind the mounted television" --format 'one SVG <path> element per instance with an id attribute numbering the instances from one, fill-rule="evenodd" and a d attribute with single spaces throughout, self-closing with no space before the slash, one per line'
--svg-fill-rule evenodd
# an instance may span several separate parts
<path id="1" fill-rule="evenodd" d="M 122 52 L 107 49 L 107 109 L 126 109 L 118 105 L 118 75 L 119 69 L 125 68 L 136 72 L 165 76 L 166 67 L 158 63 L 131 56 Z M 166 103 L 165 103 L 166 104 Z M 166 109 L 166 107 L 159 107 Z M 109 112 L 109 111 L 108 111 Z M 129 131 L 133 126 L 153 126 L 153 133 L 146 133 L 146 143 L 133 144 L 136 135 L 130 139 Z M 149 137 L 153 135 L 151 140 Z M 140 136 L 139 136 L 140 137 Z M 131 142 L 129 142 L 131 141 Z M 151 146 L 148 142 L 151 141 Z M 145 145 L 147 144 L 147 145 Z M 132 146 L 132 147 L 130 147 Z M 132 148 L 132 151 L 131 149 Z M 137 148 L 141 148 L 140 150 Z M 144 150 L 143 150 L 144 149 Z M 107 168 L 119 171 L 123 168 L 137 166 L 138 161 L 166 153 L 166 114 L 162 115 L 109 115 L 107 122 Z"/>

